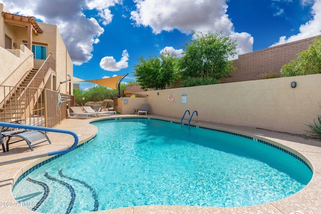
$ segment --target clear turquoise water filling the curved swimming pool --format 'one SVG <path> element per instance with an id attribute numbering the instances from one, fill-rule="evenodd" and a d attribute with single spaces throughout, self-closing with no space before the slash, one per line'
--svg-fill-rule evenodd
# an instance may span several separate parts
<path id="1" fill-rule="evenodd" d="M 152 119 L 92 124 L 92 141 L 16 183 L 18 202 L 45 213 L 249 206 L 294 194 L 312 176 L 291 155 L 236 135 Z"/>

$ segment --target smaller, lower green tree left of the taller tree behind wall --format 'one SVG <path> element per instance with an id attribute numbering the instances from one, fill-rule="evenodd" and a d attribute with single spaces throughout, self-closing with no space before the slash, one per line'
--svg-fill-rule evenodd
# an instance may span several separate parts
<path id="1" fill-rule="evenodd" d="M 145 91 L 148 88 L 165 89 L 176 79 L 175 64 L 177 57 L 175 54 L 163 52 L 160 58 L 149 57 L 145 60 L 141 57 L 139 62 L 139 64 L 134 65 L 134 76 L 140 88 Z"/>

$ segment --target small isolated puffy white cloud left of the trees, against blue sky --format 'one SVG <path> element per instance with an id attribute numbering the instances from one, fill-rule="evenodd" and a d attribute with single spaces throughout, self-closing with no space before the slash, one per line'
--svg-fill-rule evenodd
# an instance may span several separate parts
<path id="1" fill-rule="evenodd" d="M 129 60 L 129 54 L 127 50 L 123 50 L 121 59 L 119 62 L 116 62 L 116 60 L 113 57 L 104 57 L 101 59 L 99 65 L 100 68 L 106 70 L 106 71 L 119 71 L 124 68 L 128 68 L 128 60 Z"/>

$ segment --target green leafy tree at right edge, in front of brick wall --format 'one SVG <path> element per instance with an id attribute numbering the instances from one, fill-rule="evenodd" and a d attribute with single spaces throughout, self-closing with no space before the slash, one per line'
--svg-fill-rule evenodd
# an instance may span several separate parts
<path id="1" fill-rule="evenodd" d="M 285 77 L 321 73 L 321 39 L 315 37 L 314 44 L 306 51 L 298 53 L 296 59 L 285 64 L 281 73 Z"/>

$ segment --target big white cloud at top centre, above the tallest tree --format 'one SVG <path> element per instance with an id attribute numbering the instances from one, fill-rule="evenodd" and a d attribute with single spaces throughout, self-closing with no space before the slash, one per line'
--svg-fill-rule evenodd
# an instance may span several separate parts
<path id="1" fill-rule="evenodd" d="M 234 32 L 227 15 L 227 0 L 134 0 L 136 10 L 130 19 L 137 26 L 150 27 L 154 34 L 178 29 L 189 34 L 191 30 L 224 31 L 236 37 L 240 53 L 252 51 L 253 37 L 248 33 Z"/>

